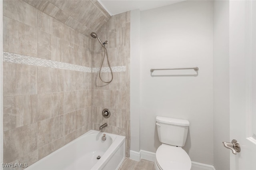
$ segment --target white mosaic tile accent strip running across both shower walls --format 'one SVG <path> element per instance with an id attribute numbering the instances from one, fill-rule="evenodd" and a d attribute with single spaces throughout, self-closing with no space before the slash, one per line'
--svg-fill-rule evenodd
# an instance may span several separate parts
<path id="1" fill-rule="evenodd" d="M 52 61 L 48 59 L 30 57 L 27 55 L 20 55 L 16 53 L 5 52 L 5 51 L 3 51 L 3 62 L 36 65 L 36 66 L 50 67 L 50 68 L 57 68 L 57 69 L 67 69 L 67 70 L 82 71 L 82 72 L 88 72 L 88 73 L 98 73 L 100 71 L 100 67 L 95 67 L 95 68 L 84 67 L 82 65 L 62 63 L 59 61 Z M 126 71 L 126 66 L 116 66 L 111 68 L 113 72 Z M 101 70 L 102 72 L 110 72 L 110 69 L 108 67 L 102 67 Z"/>

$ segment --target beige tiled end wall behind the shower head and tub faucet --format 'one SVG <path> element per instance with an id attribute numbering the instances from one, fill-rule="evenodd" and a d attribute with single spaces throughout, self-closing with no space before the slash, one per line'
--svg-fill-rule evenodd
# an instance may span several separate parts
<path id="1" fill-rule="evenodd" d="M 108 123 L 103 131 L 126 136 L 126 156 L 130 156 L 130 12 L 112 16 L 98 32 L 104 42 L 108 40 L 111 66 L 125 69 L 114 72 L 111 83 L 102 83 L 98 73 L 92 73 L 92 128 Z M 104 50 L 98 40 L 92 41 L 92 67 L 100 67 Z M 107 67 L 107 59 L 103 67 Z M 110 81 L 110 71 L 101 74 L 104 81 Z M 111 116 L 102 117 L 102 110 L 109 109 Z"/>

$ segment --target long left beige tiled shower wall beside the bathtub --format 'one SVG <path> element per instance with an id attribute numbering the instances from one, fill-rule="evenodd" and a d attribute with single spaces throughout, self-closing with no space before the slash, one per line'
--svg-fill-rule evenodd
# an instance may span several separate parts
<path id="1" fill-rule="evenodd" d="M 31 165 L 91 129 L 92 39 L 24 1 L 3 9 L 4 163 Z"/>

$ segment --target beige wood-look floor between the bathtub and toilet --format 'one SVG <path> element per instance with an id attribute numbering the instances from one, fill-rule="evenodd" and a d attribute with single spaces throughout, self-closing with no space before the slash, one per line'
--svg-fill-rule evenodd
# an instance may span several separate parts
<path id="1" fill-rule="evenodd" d="M 154 162 L 141 159 L 140 162 L 125 158 L 118 170 L 154 170 Z"/>

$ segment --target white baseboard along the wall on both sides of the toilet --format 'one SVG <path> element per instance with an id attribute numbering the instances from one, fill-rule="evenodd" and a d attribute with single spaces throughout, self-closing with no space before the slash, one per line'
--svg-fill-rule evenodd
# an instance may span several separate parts
<path id="1" fill-rule="evenodd" d="M 156 153 L 154 152 L 148 152 L 146 150 L 140 150 L 140 152 L 136 152 L 131 150 L 130 151 L 130 159 L 140 161 L 140 159 L 148 160 L 151 162 L 154 162 L 156 157 Z M 192 170 L 215 170 L 214 166 L 208 165 L 208 164 L 202 164 L 198 162 L 192 163 Z"/>

